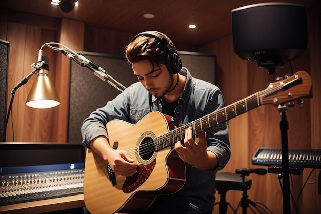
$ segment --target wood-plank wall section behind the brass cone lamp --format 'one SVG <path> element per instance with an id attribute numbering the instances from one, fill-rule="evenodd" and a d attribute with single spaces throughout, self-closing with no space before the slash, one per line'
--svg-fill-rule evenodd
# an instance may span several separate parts
<path id="1" fill-rule="evenodd" d="M 44 36 L 42 36 L 42 32 Z M 46 33 L 36 26 L 27 26 L 17 23 L 8 24 L 7 40 L 12 44 L 9 57 L 9 80 L 8 80 L 8 106 L 11 99 L 12 88 L 29 73 L 33 71 L 31 64 L 37 61 L 38 50 L 41 41 L 52 41 L 55 34 Z M 54 75 L 54 57 L 50 64 L 49 77 Z M 51 61 L 50 61 L 51 62 Z M 50 72 L 52 71 L 52 72 Z M 33 109 L 25 105 L 30 88 L 36 78 L 32 76 L 29 81 L 19 88 L 14 97 L 11 117 L 7 126 L 7 141 L 16 142 L 50 142 L 51 141 L 51 121 L 52 109 Z M 12 128 L 13 127 L 13 128 Z M 13 137 L 14 133 L 14 137 Z"/>

